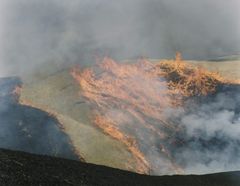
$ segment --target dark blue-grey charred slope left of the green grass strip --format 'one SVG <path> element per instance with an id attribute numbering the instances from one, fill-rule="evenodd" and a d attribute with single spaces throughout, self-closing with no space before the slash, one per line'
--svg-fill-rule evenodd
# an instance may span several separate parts
<path id="1" fill-rule="evenodd" d="M 16 86 L 21 86 L 17 77 L 0 79 L 0 147 L 78 159 L 54 117 L 18 103 Z"/>

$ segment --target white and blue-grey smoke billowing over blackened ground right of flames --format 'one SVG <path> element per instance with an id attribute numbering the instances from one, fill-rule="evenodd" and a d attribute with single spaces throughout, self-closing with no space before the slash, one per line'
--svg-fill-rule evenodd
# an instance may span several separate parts
<path id="1" fill-rule="evenodd" d="M 202 103 L 168 111 L 184 128 L 185 144 L 174 149 L 174 159 L 186 173 L 239 170 L 240 87 L 226 88 Z"/>

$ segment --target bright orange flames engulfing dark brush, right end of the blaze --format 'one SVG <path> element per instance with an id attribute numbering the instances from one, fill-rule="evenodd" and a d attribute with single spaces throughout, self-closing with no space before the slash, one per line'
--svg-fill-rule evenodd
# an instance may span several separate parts
<path id="1" fill-rule="evenodd" d="M 162 75 L 168 81 L 172 94 L 182 98 L 190 96 L 206 96 L 214 93 L 216 88 L 226 83 L 217 72 L 210 72 L 198 66 L 193 67 L 176 54 L 176 60 L 161 61 L 157 66 L 163 71 Z"/>

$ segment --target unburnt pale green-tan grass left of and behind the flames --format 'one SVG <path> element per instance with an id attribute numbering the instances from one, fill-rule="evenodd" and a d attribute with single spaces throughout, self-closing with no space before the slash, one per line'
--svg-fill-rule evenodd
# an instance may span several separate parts
<path id="1" fill-rule="evenodd" d="M 186 62 L 218 71 L 227 78 L 240 79 L 240 60 Z M 91 109 L 79 94 L 80 88 L 70 75 L 70 68 L 67 65 L 43 65 L 32 75 L 22 77 L 20 99 L 54 113 L 77 153 L 87 162 L 134 170 L 136 162 L 126 146 L 92 124 Z"/>

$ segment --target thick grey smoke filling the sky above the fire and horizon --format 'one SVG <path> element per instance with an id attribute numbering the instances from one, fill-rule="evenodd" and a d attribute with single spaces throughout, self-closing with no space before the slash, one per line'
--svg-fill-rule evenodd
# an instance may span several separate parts
<path id="1" fill-rule="evenodd" d="M 240 51 L 238 0 L 2 0 L 2 73 L 42 63 Z"/>

